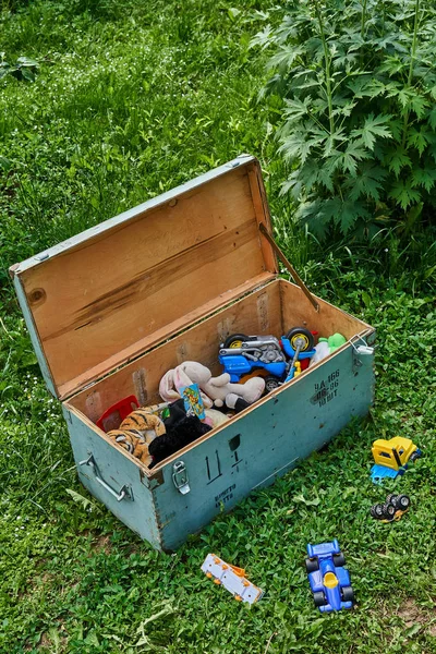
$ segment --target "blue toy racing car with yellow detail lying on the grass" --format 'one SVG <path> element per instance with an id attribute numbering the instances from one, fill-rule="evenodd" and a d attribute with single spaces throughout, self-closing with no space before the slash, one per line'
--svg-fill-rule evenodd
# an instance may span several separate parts
<path id="1" fill-rule="evenodd" d="M 307 545 L 307 578 L 315 606 L 320 613 L 352 608 L 354 593 L 338 541 Z"/>

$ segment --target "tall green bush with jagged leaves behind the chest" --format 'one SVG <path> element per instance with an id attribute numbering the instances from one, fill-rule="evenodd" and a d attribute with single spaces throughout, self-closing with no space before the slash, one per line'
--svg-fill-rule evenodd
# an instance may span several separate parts
<path id="1" fill-rule="evenodd" d="M 431 221 L 436 184 L 436 9 L 422 0 L 294 0 L 256 35 L 274 46 L 295 218 L 374 235 Z"/>

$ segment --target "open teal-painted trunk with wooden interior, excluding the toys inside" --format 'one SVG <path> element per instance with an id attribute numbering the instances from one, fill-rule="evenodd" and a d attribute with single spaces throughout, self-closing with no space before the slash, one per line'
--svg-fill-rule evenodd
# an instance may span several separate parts
<path id="1" fill-rule="evenodd" d="M 12 266 L 49 390 L 62 401 L 78 476 L 124 524 L 172 550 L 330 440 L 373 401 L 374 329 L 279 278 L 261 168 L 241 156 Z M 347 343 L 148 470 L 97 427 L 117 400 L 159 401 L 167 370 L 219 374 L 233 332 L 293 326 Z"/>

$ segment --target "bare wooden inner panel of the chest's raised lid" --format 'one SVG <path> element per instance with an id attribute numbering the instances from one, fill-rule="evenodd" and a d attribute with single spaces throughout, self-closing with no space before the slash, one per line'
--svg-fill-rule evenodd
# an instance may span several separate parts
<path id="1" fill-rule="evenodd" d="M 259 186 L 254 192 L 250 179 L 256 171 L 251 160 L 19 270 L 59 396 L 270 270 L 257 230 Z"/>

